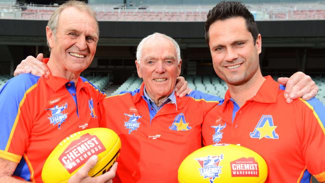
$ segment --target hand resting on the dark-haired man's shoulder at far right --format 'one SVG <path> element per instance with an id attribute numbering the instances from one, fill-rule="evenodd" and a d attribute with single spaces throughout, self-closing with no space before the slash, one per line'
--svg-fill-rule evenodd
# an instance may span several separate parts
<path id="1" fill-rule="evenodd" d="M 316 83 L 303 72 L 295 72 L 290 78 L 279 77 L 277 81 L 285 85 L 284 97 L 287 103 L 291 103 L 294 98 L 298 97 L 308 100 L 318 92 Z"/>

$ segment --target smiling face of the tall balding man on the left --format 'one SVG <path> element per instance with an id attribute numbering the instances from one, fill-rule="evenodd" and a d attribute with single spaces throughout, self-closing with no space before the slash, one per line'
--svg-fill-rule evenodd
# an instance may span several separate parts
<path id="1" fill-rule="evenodd" d="M 79 74 L 91 63 L 98 41 L 96 20 L 86 11 L 67 7 L 59 15 L 55 34 L 47 26 L 46 37 L 58 76 Z M 51 70 L 52 71 L 52 70 Z"/>

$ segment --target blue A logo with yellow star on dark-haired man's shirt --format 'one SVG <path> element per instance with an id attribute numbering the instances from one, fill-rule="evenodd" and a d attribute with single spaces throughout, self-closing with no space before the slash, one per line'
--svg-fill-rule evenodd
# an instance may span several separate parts
<path id="1" fill-rule="evenodd" d="M 259 119 L 253 132 L 249 133 L 251 138 L 271 138 L 278 139 L 278 134 L 275 132 L 277 126 L 273 123 L 273 118 L 271 115 L 262 115 Z"/>

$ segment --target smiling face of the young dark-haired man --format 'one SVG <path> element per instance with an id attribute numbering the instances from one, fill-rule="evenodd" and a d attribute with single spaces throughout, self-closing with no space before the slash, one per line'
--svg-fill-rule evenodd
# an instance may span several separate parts
<path id="1" fill-rule="evenodd" d="M 254 42 L 243 17 L 217 20 L 208 34 L 214 71 L 226 83 L 242 85 L 260 73 L 261 36 Z"/>

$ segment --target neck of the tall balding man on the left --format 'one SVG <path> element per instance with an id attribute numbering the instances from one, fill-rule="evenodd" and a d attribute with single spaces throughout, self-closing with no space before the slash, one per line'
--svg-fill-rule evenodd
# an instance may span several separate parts
<path id="1" fill-rule="evenodd" d="M 53 76 L 62 77 L 70 81 L 77 82 L 80 73 L 70 72 L 62 67 L 62 65 L 55 63 L 54 59 L 49 58 L 47 62 L 48 69 L 51 71 Z"/>

